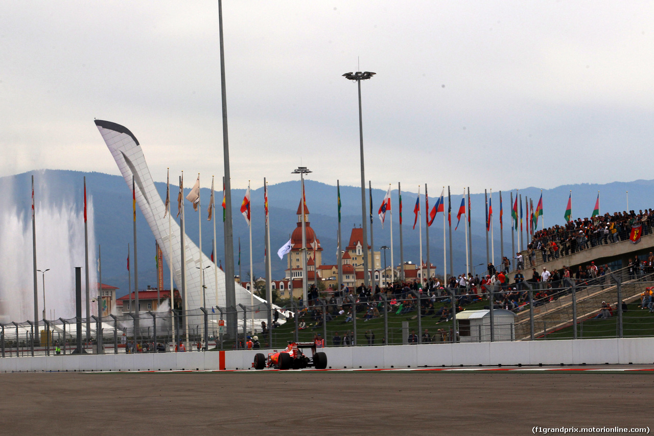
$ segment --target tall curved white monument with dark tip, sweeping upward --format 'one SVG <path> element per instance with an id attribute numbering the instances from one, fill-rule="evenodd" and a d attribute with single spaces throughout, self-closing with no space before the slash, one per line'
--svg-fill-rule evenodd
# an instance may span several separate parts
<path id="1" fill-rule="evenodd" d="M 118 168 L 125 177 L 129 189 L 131 189 L 131 178 L 134 177 L 136 202 L 139 209 L 145 216 L 150 230 L 154 234 L 160 247 L 162 248 L 163 257 L 169 268 L 173 268 L 173 276 L 177 287 L 181 289 L 182 280 L 182 263 L 181 263 L 181 230 L 179 224 L 175 221 L 171 224 L 171 234 L 168 232 L 168 217 L 163 218 L 165 205 L 162 198 L 154 188 L 152 175 L 145 162 L 143 150 L 136 137 L 129 132 L 129 129 L 110 121 L 95 120 L 95 125 L 100 131 L 109 151 L 118 164 Z M 171 206 L 177 198 L 177 190 L 172 192 L 171 189 Z M 173 208 L 171 208 L 172 211 Z M 195 216 L 195 215 L 192 215 Z M 188 217 L 186 218 L 188 219 Z M 172 238 L 173 255 L 170 259 L 169 238 Z M 188 236 L 184 238 L 186 245 L 186 299 L 188 309 L 199 308 L 202 306 L 202 288 L 200 285 L 200 270 L 196 266 L 200 265 L 200 255 L 203 256 L 203 266 L 210 265 L 205 270 L 205 298 L 207 306 L 216 305 L 216 291 L 218 293 L 217 305 L 225 306 L 225 273 L 218 268 L 218 289 L 215 289 L 214 270 L 216 264 L 205 254 L 201 254 L 198 246 L 194 244 Z M 264 302 L 254 295 L 254 303 Z M 236 286 L 236 304 L 250 306 L 250 292 L 240 285 Z"/>

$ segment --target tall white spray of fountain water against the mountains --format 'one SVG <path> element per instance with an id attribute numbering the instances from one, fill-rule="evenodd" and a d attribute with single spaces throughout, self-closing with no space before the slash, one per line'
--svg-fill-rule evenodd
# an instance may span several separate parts
<path id="1" fill-rule="evenodd" d="M 80 183 L 82 181 L 80 180 Z M 38 277 L 38 312 L 43 318 L 45 283 L 46 318 L 75 317 L 75 266 L 82 267 L 82 316 L 86 316 L 84 280 L 84 204 L 62 192 L 50 192 L 41 173 L 35 175 L 37 202 L 37 269 L 50 269 Z M 72 192 L 73 189 L 71 189 Z M 87 198 L 90 298 L 97 295 L 94 208 Z M 9 205 L 0 210 L 0 322 L 34 318 L 34 278 L 31 210 Z M 92 304 L 93 307 L 93 304 Z M 92 314 L 97 312 L 93 311 Z"/>

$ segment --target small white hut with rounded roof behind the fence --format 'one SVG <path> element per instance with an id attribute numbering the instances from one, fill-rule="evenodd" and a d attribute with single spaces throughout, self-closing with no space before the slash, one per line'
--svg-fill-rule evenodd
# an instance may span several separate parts
<path id="1" fill-rule="evenodd" d="M 517 315 L 506 309 L 495 309 L 493 314 L 493 340 L 515 339 Z M 456 314 L 460 342 L 490 341 L 490 310 L 464 310 Z"/>

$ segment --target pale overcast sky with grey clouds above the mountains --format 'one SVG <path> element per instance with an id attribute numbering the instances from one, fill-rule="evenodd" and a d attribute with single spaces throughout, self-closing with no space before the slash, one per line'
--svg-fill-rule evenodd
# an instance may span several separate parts
<path id="1" fill-rule="evenodd" d="M 366 179 L 508 190 L 653 179 L 651 1 L 223 4 L 232 187 Z M 0 14 L 0 175 L 119 174 L 94 118 L 155 180 L 221 177 L 217 1 L 13 1 Z M 456 189 L 458 192 L 458 189 Z"/>

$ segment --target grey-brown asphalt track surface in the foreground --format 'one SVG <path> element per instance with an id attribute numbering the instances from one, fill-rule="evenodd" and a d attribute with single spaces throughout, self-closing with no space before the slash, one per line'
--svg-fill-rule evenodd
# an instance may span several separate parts
<path id="1" fill-rule="evenodd" d="M 5 373 L 0 434 L 527 435 L 654 423 L 651 366 L 478 370 Z"/>

